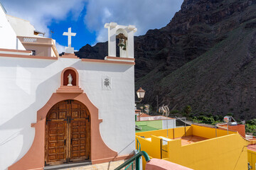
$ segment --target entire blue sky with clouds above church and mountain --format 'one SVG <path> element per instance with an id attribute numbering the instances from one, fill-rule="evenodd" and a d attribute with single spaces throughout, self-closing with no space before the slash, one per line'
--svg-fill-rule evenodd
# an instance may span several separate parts
<path id="1" fill-rule="evenodd" d="M 135 25 L 135 35 L 166 26 L 181 8 L 183 0 L 0 0 L 7 14 L 31 22 L 36 30 L 56 40 L 58 52 L 68 44 L 68 28 L 72 28 L 72 46 L 79 50 L 86 44 L 107 41 L 105 23 Z"/>

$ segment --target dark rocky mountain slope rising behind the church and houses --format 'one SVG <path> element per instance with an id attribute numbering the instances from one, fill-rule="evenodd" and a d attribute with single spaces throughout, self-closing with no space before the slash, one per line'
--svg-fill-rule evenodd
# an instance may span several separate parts
<path id="1" fill-rule="evenodd" d="M 256 0 L 185 0 L 164 28 L 134 38 L 135 86 L 144 103 L 193 113 L 256 117 Z M 81 58 L 103 59 L 107 42 Z"/>

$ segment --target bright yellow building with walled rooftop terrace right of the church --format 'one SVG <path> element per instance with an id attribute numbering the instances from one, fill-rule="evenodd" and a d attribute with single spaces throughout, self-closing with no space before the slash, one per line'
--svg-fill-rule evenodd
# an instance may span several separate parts
<path id="1" fill-rule="evenodd" d="M 195 170 L 247 169 L 249 142 L 238 132 L 191 125 L 186 128 L 137 132 L 141 149 Z M 138 145 L 139 146 L 139 145 Z"/>

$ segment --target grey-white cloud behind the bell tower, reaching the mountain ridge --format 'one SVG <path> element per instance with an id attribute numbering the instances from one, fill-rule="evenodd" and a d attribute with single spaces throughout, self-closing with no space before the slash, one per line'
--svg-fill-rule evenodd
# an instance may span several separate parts
<path id="1" fill-rule="evenodd" d="M 87 4 L 85 24 L 96 31 L 97 42 L 107 40 L 105 23 L 135 25 L 136 35 L 143 35 L 149 29 L 161 28 L 174 16 L 183 0 L 91 0 Z"/>

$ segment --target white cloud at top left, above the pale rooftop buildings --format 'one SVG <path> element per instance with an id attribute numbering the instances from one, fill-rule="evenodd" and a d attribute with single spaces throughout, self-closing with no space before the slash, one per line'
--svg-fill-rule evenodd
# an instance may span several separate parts
<path id="1" fill-rule="evenodd" d="M 1 3 L 11 16 L 23 18 L 31 24 L 49 35 L 48 26 L 55 21 L 65 20 L 69 12 L 73 14 L 73 19 L 80 15 L 86 0 L 2 0 Z"/>

